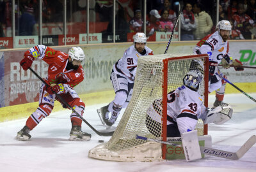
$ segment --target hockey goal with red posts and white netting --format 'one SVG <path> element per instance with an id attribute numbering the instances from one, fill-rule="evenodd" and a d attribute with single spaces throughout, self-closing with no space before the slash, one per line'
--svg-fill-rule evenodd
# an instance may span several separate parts
<path id="1" fill-rule="evenodd" d="M 136 134 L 166 141 L 167 94 L 183 85 L 182 79 L 189 70 L 200 70 L 204 75 L 199 93 L 204 97 L 204 103 L 207 106 L 207 66 L 208 56 L 206 54 L 165 54 L 140 57 L 132 98 L 115 133 L 108 143 L 103 143 L 90 150 L 89 157 L 109 161 L 165 159 L 166 145 L 136 140 Z M 154 121 L 148 121 L 147 109 L 156 99 L 161 98 L 163 105 L 160 106 L 157 113 L 162 115 L 162 124 L 155 125 Z M 198 129 L 198 135 L 207 133 L 207 129 L 204 131 L 202 120 L 198 120 L 196 129 Z"/>

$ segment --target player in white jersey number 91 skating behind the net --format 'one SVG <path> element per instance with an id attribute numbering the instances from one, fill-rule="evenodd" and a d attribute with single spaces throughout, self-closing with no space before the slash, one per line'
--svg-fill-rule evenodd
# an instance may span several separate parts
<path id="1" fill-rule="evenodd" d="M 115 90 L 115 99 L 107 106 L 97 110 L 102 124 L 111 126 L 115 123 L 120 110 L 126 108 L 132 95 L 134 79 L 140 56 L 153 55 L 153 51 L 146 46 L 147 37 L 138 32 L 134 35 L 134 45 L 125 50 L 124 55 L 114 65 L 111 82 Z M 111 117 L 109 118 L 109 112 Z"/>

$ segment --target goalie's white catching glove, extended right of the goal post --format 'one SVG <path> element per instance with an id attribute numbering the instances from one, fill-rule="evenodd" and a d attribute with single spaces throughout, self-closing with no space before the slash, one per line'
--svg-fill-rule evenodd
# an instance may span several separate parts
<path id="1" fill-rule="evenodd" d="M 204 124 L 214 123 L 217 125 L 224 124 L 232 118 L 233 109 L 227 103 L 223 103 L 216 108 L 208 108 Z"/>

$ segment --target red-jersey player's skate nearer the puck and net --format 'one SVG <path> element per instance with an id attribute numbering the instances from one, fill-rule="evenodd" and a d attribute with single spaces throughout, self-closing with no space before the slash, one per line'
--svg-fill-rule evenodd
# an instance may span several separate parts
<path id="1" fill-rule="evenodd" d="M 89 141 L 92 135 L 81 131 L 81 127 L 78 125 L 72 126 L 70 131 L 70 138 L 68 140 L 72 141 Z"/>

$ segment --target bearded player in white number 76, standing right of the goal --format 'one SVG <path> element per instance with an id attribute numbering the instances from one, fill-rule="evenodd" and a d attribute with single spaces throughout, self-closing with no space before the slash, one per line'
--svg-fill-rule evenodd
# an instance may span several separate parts
<path id="1" fill-rule="evenodd" d="M 243 70 L 243 64 L 237 59 L 233 60 L 230 57 L 227 41 L 232 29 L 230 22 L 227 20 L 221 20 L 218 22 L 216 29 L 218 30 L 211 34 L 211 36 L 206 39 L 204 45 L 199 48 L 200 54 L 209 55 L 209 92 L 216 90 L 216 101 L 214 102 L 215 107 L 220 105 L 223 101 L 226 85 L 226 82 L 221 82 L 221 79 L 215 74 L 218 73 L 219 75 L 223 75 L 220 69 L 216 66 L 221 63 L 224 68 L 229 68 L 229 66 L 233 64 L 236 66 L 236 71 Z M 194 53 L 198 54 L 198 50 L 196 51 L 196 49 L 198 48 L 195 48 Z"/>

